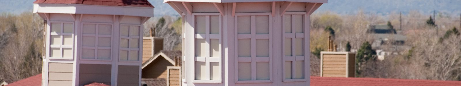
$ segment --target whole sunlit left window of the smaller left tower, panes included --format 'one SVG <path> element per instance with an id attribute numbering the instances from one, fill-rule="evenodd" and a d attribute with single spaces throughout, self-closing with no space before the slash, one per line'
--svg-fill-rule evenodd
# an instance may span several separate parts
<path id="1" fill-rule="evenodd" d="M 50 22 L 50 54 L 51 59 L 73 59 L 74 23 Z"/>

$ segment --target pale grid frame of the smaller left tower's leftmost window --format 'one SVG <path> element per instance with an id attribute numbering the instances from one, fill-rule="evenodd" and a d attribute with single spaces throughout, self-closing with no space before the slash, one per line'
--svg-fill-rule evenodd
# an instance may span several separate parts
<path id="1" fill-rule="evenodd" d="M 51 30 L 52 28 L 52 23 L 61 23 L 61 32 L 59 33 L 52 33 Z M 64 23 L 71 23 L 72 24 L 72 33 L 64 33 Z M 49 28 L 47 28 L 47 51 L 46 52 L 46 57 L 48 59 L 74 59 L 75 58 L 75 22 L 74 21 L 48 21 Z M 60 36 L 61 39 L 61 45 L 51 45 L 51 36 Z M 63 36 L 72 36 L 72 45 L 63 45 L 64 37 Z M 61 51 L 61 57 L 51 57 L 51 48 L 59 48 L 59 51 Z M 72 50 L 72 57 L 71 58 L 64 58 L 63 56 L 63 48 L 71 48 Z"/>

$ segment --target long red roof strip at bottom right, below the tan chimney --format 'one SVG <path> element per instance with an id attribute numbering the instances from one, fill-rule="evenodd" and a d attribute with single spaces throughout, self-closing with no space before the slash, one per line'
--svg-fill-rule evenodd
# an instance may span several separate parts
<path id="1" fill-rule="evenodd" d="M 340 78 L 311 76 L 311 86 L 461 86 L 461 81 Z"/>

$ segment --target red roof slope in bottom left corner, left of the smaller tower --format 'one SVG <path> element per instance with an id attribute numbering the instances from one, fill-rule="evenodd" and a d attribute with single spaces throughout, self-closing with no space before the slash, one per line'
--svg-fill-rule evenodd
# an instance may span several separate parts
<path id="1" fill-rule="evenodd" d="M 30 76 L 29 78 L 10 83 L 6 86 L 41 86 L 41 74 Z"/>

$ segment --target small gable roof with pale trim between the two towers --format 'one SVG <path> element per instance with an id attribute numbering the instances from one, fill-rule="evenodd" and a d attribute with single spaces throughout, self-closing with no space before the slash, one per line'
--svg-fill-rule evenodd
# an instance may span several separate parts
<path id="1" fill-rule="evenodd" d="M 178 61 L 181 60 L 181 51 L 167 51 L 167 50 L 162 50 L 159 53 L 155 54 L 154 57 L 150 58 L 147 60 L 145 63 L 142 64 L 142 69 L 152 63 L 155 59 L 158 59 L 159 57 L 163 57 L 164 59 L 168 60 L 172 65 L 176 65 L 175 58 L 177 58 Z"/>

